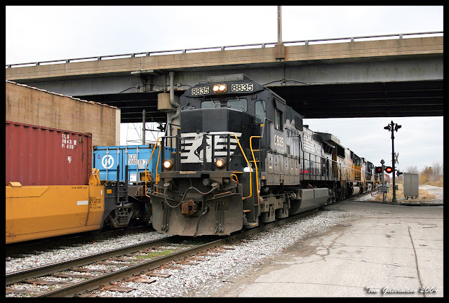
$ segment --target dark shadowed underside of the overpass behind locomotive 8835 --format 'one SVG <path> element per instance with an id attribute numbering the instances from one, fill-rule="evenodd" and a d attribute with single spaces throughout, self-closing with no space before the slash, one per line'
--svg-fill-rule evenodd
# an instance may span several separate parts
<path id="1" fill-rule="evenodd" d="M 268 86 L 306 119 L 443 116 L 443 80 Z M 121 123 L 166 122 L 154 93 L 76 95 L 121 109 Z M 182 95 L 176 90 L 176 95 Z"/>

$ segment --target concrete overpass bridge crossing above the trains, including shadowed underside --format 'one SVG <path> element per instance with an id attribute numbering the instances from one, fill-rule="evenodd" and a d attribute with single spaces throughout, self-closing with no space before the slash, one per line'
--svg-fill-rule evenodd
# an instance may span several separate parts
<path id="1" fill-rule="evenodd" d="M 430 35 L 430 36 L 429 36 Z M 172 72 L 172 73 L 170 73 Z M 443 116 L 443 32 L 344 37 L 6 65 L 6 80 L 166 121 L 157 95 L 246 74 L 305 118 Z"/>

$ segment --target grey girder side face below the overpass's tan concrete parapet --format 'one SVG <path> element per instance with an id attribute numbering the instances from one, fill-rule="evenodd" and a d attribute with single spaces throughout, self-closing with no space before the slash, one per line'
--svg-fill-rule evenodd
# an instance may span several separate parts
<path id="1" fill-rule="evenodd" d="M 443 58 L 389 60 L 375 62 L 342 62 L 333 64 L 296 64 L 282 62 L 277 66 L 229 66 L 208 70 L 175 70 L 175 90 L 183 91 L 220 74 L 246 74 L 267 87 L 302 86 L 335 83 L 373 83 L 397 81 L 434 81 L 443 79 Z M 149 93 L 168 91 L 168 70 L 121 73 L 86 79 L 58 81 L 21 81 L 63 95 L 105 95 L 119 93 Z"/>

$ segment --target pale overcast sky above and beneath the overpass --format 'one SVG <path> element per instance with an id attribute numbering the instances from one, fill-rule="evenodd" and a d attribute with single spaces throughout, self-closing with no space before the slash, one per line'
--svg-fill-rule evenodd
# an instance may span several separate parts
<path id="1" fill-rule="evenodd" d="M 443 31 L 443 6 L 282 6 L 283 41 L 434 31 Z M 6 6 L 6 64 L 276 41 L 276 6 Z M 304 124 L 375 165 L 391 165 L 391 133 L 383 129 L 391 120 L 402 125 L 396 167 L 443 162 L 443 117 Z M 127 130 L 128 140 L 137 137 L 132 125 L 122 129 L 121 144 Z"/>

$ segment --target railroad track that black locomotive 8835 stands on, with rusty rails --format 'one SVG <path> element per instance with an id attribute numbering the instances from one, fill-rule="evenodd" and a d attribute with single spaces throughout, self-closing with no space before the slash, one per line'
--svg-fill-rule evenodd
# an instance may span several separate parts
<path id="1" fill-rule="evenodd" d="M 114 285 L 114 281 L 138 278 L 143 273 L 145 276 L 164 277 L 165 274 L 152 271 L 173 261 L 182 265 L 191 264 L 192 261 L 199 262 L 201 257 L 194 255 L 213 253 L 214 249 L 219 246 L 226 248 L 224 245 L 239 238 L 286 224 L 316 211 L 318 210 L 311 210 L 225 238 L 170 236 L 74 260 L 15 271 L 6 274 L 6 293 L 24 294 L 31 297 L 88 297 L 87 292 L 99 288 L 126 291 L 126 289 Z M 102 265 L 102 269 L 98 269 L 98 265 Z M 151 278 L 140 279 L 140 281 L 152 283 Z M 36 290 L 20 290 L 17 287 L 18 284 L 15 283 L 36 285 Z M 46 285 L 46 289 L 42 290 L 40 285 Z"/>

